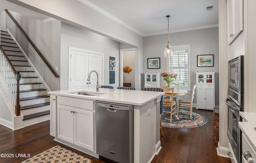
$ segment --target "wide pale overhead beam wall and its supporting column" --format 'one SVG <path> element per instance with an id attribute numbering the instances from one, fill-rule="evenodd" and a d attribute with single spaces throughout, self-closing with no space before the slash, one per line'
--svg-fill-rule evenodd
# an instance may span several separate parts
<path id="1" fill-rule="evenodd" d="M 46 16 L 56 18 L 62 22 L 85 28 L 100 35 L 114 39 L 121 43 L 133 45 L 135 50 L 135 85 L 140 89 L 143 73 L 143 38 L 134 31 L 122 26 L 104 14 L 90 8 L 82 2 L 75 0 L 8 0 L 30 10 Z M 56 8 L 58 6 L 58 8 Z"/>

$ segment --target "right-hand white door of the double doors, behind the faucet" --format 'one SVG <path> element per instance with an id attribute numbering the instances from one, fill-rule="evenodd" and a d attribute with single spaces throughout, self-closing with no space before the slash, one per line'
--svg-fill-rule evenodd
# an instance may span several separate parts
<path id="1" fill-rule="evenodd" d="M 89 53 L 88 55 L 88 73 L 92 70 L 96 70 L 98 72 L 99 84 L 102 85 L 102 55 Z M 97 75 L 96 73 L 91 74 L 91 84 L 89 87 L 96 87 L 97 84 Z"/>

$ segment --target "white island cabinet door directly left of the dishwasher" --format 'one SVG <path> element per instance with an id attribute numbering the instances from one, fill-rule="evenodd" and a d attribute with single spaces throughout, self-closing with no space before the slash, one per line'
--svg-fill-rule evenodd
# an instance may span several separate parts
<path id="1" fill-rule="evenodd" d="M 74 144 L 94 151 L 93 112 L 74 108 Z"/>

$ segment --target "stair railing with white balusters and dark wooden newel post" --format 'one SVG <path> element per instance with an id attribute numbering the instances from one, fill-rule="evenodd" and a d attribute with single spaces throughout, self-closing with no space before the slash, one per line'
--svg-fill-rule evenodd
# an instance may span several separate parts
<path id="1" fill-rule="evenodd" d="M 0 82 L 2 82 L 16 116 L 20 116 L 20 72 L 16 71 L 0 45 Z"/>

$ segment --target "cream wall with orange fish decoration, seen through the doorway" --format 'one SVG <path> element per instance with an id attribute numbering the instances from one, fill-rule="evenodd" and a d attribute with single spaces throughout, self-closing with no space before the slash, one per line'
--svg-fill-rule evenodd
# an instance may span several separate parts
<path id="1" fill-rule="evenodd" d="M 123 73 L 123 82 L 130 82 L 132 87 L 135 87 L 135 51 L 123 52 L 123 67 L 129 66 L 132 71 Z M 138 89 L 138 88 L 137 88 Z"/>

